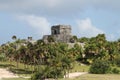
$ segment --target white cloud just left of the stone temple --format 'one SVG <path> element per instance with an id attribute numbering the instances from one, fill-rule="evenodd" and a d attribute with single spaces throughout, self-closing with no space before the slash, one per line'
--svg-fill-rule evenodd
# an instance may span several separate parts
<path id="1" fill-rule="evenodd" d="M 34 15 L 24 15 L 18 18 L 27 23 L 28 27 L 34 28 L 39 36 L 50 34 L 50 23 L 46 18 Z"/>

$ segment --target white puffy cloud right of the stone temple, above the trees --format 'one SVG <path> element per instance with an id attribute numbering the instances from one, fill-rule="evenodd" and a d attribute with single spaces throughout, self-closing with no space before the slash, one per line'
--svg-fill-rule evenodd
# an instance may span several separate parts
<path id="1" fill-rule="evenodd" d="M 82 37 L 93 37 L 97 34 L 104 33 L 102 30 L 96 28 L 89 18 L 84 20 L 77 20 L 77 25 L 79 29 L 79 35 Z"/>

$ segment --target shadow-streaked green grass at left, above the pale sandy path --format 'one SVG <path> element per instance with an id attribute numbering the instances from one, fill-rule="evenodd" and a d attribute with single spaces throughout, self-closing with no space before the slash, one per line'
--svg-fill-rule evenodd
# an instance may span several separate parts
<path id="1" fill-rule="evenodd" d="M 16 62 L 1 61 L 0 68 L 8 68 L 9 71 L 18 75 L 30 76 L 33 73 L 33 66 L 27 65 L 27 68 L 25 68 L 24 64 L 19 63 L 19 67 L 17 68 Z"/>

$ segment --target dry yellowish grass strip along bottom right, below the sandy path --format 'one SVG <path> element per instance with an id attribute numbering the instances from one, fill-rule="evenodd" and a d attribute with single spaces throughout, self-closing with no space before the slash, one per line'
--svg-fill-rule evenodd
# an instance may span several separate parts
<path id="1" fill-rule="evenodd" d="M 120 80 L 120 75 L 117 74 L 85 74 L 72 79 L 60 80 Z"/>

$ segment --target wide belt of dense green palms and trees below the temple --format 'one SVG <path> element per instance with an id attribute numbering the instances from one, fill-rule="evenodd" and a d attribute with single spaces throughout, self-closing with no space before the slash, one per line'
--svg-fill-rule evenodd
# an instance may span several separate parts
<path id="1" fill-rule="evenodd" d="M 52 37 L 48 38 L 49 43 L 47 44 L 43 40 L 32 42 L 17 39 L 15 35 L 12 39 L 13 42 L 0 46 L 0 60 L 15 61 L 17 67 L 19 67 L 19 63 L 35 66 L 34 71 L 38 71 L 35 75 L 41 73 L 40 66 L 49 66 L 49 72 L 44 71 L 47 67 L 41 70 L 45 72 L 45 75 L 42 74 L 44 78 L 63 77 L 73 68 L 73 62 L 75 61 L 92 64 L 92 67 L 102 65 L 105 69 L 109 65 L 104 65 L 106 63 L 104 61 L 109 61 L 111 65 L 120 66 L 120 40 L 107 41 L 105 34 L 79 39 L 73 36 L 75 41 L 69 44 L 56 43 Z M 98 64 L 96 60 L 102 60 L 103 62 L 98 62 Z M 115 73 L 118 72 L 116 69 L 112 70 Z M 94 70 L 91 69 L 92 71 Z"/>

